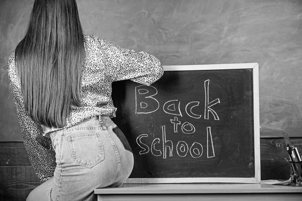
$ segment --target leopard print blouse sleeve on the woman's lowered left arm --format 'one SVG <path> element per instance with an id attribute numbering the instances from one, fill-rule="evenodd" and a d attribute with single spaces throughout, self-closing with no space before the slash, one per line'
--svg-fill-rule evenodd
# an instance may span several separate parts
<path id="1" fill-rule="evenodd" d="M 53 176 L 56 167 L 55 152 L 50 138 L 42 135 L 41 126 L 28 116 L 24 108 L 19 77 L 15 68 L 15 53 L 12 53 L 9 58 L 8 73 L 24 146 L 34 171 L 40 181 L 44 182 Z"/>

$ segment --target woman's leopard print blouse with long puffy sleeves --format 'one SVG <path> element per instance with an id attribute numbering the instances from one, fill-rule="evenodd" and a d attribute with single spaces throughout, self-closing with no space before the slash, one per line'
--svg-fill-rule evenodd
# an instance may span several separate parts
<path id="1" fill-rule="evenodd" d="M 84 38 L 82 107 L 71 104 L 70 120 L 61 129 L 72 127 L 94 116 L 115 117 L 116 108 L 111 98 L 113 81 L 130 79 L 150 85 L 164 73 L 161 62 L 146 52 L 124 49 L 94 35 L 85 35 Z M 37 176 L 44 182 L 53 176 L 56 167 L 49 133 L 59 129 L 36 124 L 28 116 L 24 108 L 14 52 L 8 60 L 8 73 L 25 149 Z"/>

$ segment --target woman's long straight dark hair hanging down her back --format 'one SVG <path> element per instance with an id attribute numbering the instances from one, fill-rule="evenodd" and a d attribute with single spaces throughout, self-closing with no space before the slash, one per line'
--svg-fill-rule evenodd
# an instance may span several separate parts
<path id="1" fill-rule="evenodd" d="M 85 59 L 75 0 L 35 0 L 15 54 L 29 116 L 47 127 L 66 126 L 71 103 L 81 106 Z"/>

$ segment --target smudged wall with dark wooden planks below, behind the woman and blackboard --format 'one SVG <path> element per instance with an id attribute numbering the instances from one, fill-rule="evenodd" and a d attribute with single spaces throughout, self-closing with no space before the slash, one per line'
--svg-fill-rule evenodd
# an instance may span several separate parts
<path id="1" fill-rule="evenodd" d="M 33 0 L 0 0 L 0 197 L 39 184 L 22 143 L 7 60 Z M 78 0 L 86 34 L 146 51 L 163 65 L 259 63 L 262 179 L 288 178 L 281 132 L 302 149 L 301 0 Z"/>

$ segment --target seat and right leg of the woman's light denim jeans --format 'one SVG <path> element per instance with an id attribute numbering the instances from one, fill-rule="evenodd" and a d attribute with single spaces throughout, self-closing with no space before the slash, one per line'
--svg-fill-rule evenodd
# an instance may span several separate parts
<path id="1" fill-rule="evenodd" d="M 133 154 L 109 117 L 94 117 L 50 133 L 56 153 L 50 200 L 95 200 L 94 189 L 120 186 L 133 168 Z"/>

